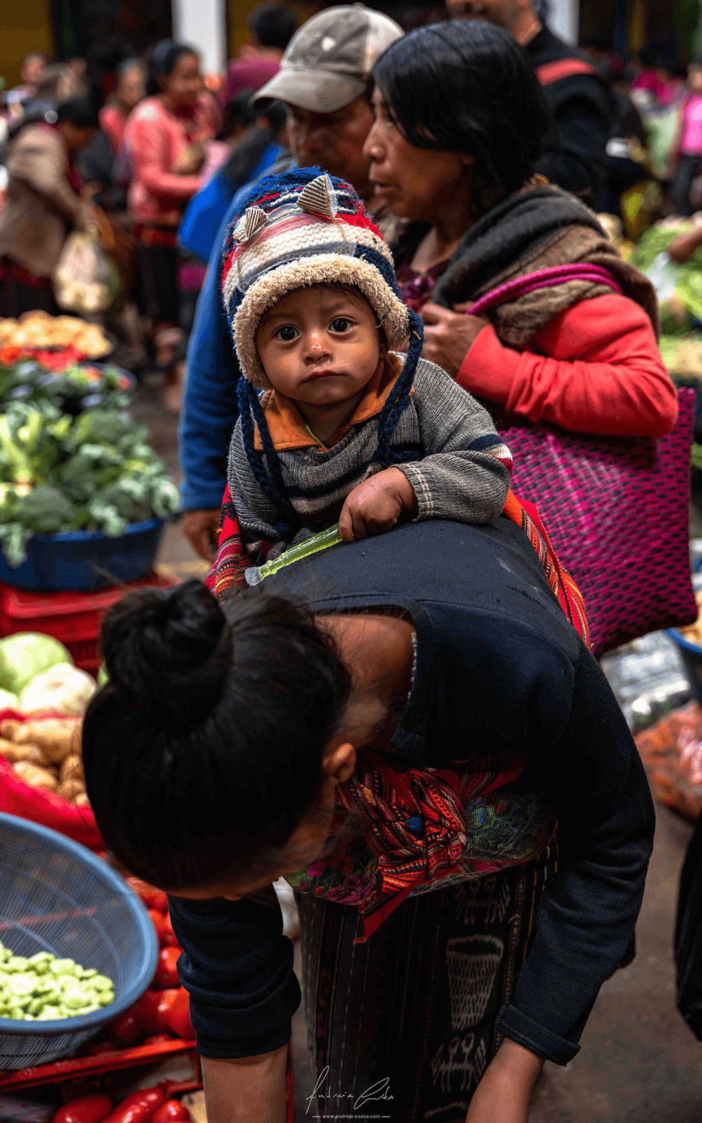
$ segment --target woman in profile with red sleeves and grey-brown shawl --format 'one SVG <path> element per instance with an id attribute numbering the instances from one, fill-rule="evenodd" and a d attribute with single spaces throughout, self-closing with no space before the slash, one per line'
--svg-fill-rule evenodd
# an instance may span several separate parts
<path id="1" fill-rule="evenodd" d="M 374 79 L 365 152 L 376 193 L 409 220 L 393 248 L 425 356 L 499 428 L 668 432 L 655 294 L 589 208 L 534 174 L 551 125 L 522 48 L 484 21 L 438 24 L 398 39 Z"/>

